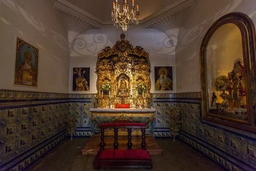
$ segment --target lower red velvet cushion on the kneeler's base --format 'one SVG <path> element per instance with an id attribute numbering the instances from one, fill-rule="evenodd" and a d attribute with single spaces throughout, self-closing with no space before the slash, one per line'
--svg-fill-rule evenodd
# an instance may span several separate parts
<path id="1" fill-rule="evenodd" d="M 102 150 L 99 151 L 96 158 L 98 160 L 111 160 L 111 159 L 139 159 L 139 160 L 151 160 L 151 157 L 147 150 L 134 149 L 134 150 Z"/>

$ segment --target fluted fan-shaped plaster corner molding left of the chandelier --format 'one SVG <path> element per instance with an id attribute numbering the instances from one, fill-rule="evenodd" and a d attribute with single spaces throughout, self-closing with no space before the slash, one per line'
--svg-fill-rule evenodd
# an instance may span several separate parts
<path id="1" fill-rule="evenodd" d="M 54 2 L 53 6 L 58 11 L 61 16 L 61 19 L 64 22 L 65 28 L 67 30 L 68 42 L 70 49 L 75 45 L 77 37 L 82 34 L 84 31 L 90 29 L 98 29 L 100 23 L 93 21 L 92 18 L 88 15 L 70 8 L 65 0 L 57 0 Z"/>

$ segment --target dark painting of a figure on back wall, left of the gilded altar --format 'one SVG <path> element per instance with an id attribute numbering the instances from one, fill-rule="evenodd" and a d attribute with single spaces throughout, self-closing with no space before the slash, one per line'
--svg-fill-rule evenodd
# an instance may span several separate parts
<path id="1" fill-rule="evenodd" d="M 73 67 L 72 91 L 90 91 L 90 67 Z"/>

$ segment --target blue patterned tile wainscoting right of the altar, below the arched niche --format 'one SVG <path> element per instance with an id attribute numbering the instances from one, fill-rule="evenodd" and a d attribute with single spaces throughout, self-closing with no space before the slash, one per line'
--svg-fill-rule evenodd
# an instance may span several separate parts
<path id="1" fill-rule="evenodd" d="M 256 170 L 256 135 L 202 120 L 201 93 L 153 94 L 155 120 L 153 135 L 171 137 L 170 109 L 181 107 L 179 138 L 226 170 Z"/>

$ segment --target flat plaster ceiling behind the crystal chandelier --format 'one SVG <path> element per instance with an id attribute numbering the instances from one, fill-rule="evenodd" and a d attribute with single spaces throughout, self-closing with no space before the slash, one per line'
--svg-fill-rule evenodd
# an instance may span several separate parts
<path id="1" fill-rule="evenodd" d="M 112 21 L 111 11 L 113 1 L 116 0 L 67 0 L 73 5 L 81 8 L 103 22 Z M 132 6 L 132 0 L 127 0 L 129 8 Z M 163 8 L 172 5 L 179 0 L 134 0 L 134 6 L 139 5 L 140 19 L 161 11 Z M 118 0 L 121 3 L 121 0 Z"/>

